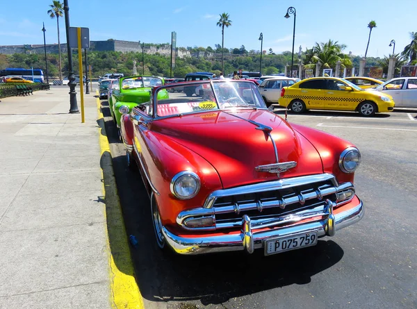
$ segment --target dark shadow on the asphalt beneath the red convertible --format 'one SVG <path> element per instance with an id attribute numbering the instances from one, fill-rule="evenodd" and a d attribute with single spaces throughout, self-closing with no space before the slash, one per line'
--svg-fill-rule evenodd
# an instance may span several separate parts
<path id="1" fill-rule="evenodd" d="M 102 111 L 109 119 L 105 121 L 109 142 L 120 143 L 105 101 Z M 155 242 L 149 197 L 140 174 L 131 172 L 124 156 L 113 158 L 113 168 L 126 233 L 138 240 L 138 246 L 131 247 L 136 282 L 142 297 L 149 301 L 199 300 L 204 306 L 224 303 L 234 297 L 309 283 L 312 276 L 343 257 L 343 249 L 332 240 L 268 257 L 261 249 L 252 255 L 241 251 L 206 256 L 161 251 Z M 117 259 L 115 262 L 117 265 Z M 123 265 L 120 267 L 122 270 Z"/>

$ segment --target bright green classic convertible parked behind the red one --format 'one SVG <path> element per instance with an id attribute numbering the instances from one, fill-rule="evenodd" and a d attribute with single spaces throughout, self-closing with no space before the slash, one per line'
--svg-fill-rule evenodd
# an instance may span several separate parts
<path id="1" fill-rule="evenodd" d="M 163 78 L 158 76 L 128 76 L 120 78 L 119 87 L 115 87 L 108 98 L 108 105 L 117 128 L 120 128 L 120 117 L 129 114 L 139 104 L 149 102 L 152 87 L 164 85 Z M 169 99 L 166 90 L 158 92 L 158 99 Z"/>

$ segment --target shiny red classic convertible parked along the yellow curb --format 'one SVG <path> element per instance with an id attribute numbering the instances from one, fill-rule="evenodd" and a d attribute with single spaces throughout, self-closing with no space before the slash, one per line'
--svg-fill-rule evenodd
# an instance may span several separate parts
<path id="1" fill-rule="evenodd" d="M 201 97 L 169 89 L 183 83 L 154 87 L 148 103 L 122 116 L 127 162 L 149 193 L 159 247 L 270 255 L 361 219 L 353 144 L 289 124 L 250 81 L 191 83 Z"/>

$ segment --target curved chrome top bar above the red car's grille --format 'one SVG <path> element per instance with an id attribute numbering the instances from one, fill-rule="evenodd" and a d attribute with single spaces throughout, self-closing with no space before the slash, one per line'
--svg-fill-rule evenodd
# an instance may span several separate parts
<path id="1" fill-rule="evenodd" d="M 204 208 L 212 208 L 215 200 L 219 197 L 227 197 L 229 195 L 250 194 L 263 191 L 272 191 L 286 189 L 288 187 L 296 187 L 308 183 L 318 183 L 320 181 L 332 181 L 334 187 L 338 187 L 336 178 L 332 174 L 316 174 L 309 176 L 284 178 L 279 181 L 268 181 L 266 183 L 255 183 L 253 185 L 243 185 L 240 187 L 232 187 L 230 189 L 220 189 L 212 192 L 204 202 Z"/>

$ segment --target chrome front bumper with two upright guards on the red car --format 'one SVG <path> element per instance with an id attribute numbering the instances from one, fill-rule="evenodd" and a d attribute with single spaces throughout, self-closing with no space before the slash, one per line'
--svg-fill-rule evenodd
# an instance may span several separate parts
<path id="1" fill-rule="evenodd" d="M 330 202 L 331 203 L 331 202 Z M 245 250 L 252 253 L 254 249 L 263 248 L 263 243 L 273 237 L 287 237 L 299 233 L 317 232 L 318 237 L 333 236 L 341 228 L 350 226 L 362 219 L 364 214 L 363 203 L 333 215 L 332 206 L 329 206 L 327 218 L 306 224 L 295 224 L 288 227 L 273 228 L 268 231 L 253 231 L 250 218 L 247 215 L 242 219 L 242 230 L 240 234 L 215 235 L 202 237 L 180 237 L 163 226 L 162 233 L 167 244 L 180 254 L 201 254 L 224 251 Z"/>

